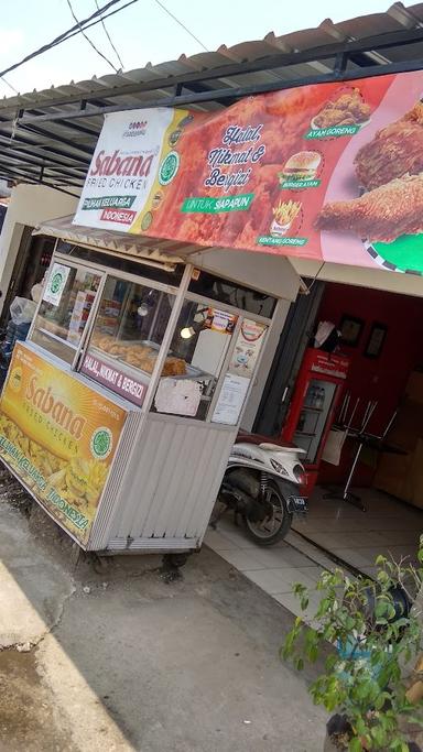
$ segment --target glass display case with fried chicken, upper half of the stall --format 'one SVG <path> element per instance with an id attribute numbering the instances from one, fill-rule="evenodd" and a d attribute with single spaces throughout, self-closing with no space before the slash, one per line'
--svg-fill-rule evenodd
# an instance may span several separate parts
<path id="1" fill-rule="evenodd" d="M 144 404 L 156 374 L 149 408 L 199 421 L 218 422 L 228 414 L 221 405 L 214 412 L 219 379 L 226 371 L 230 377 L 226 386 L 235 400 L 230 419 L 238 418 L 259 352 L 254 340 L 261 338 L 261 347 L 267 330 L 262 325 L 257 328 L 250 317 L 268 320 L 274 297 L 209 272 L 192 274 L 181 297 L 180 268 L 172 273 L 105 258 L 98 251 L 63 250 L 65 254 L 55 254 L 30 331 L 34 344 L 138 407 Z M 135 270 L 143 276 L 134 275 Z M 62 275 L 56 292 L 51 288 L 55 275 Z M 177 298 L 177 316 L 171 326 Z M 243 340 L 247 329 L 252 337 Z M 166 350 L 161 352 L 167 331 Z M 235 345 L 236 367 L 230 363 Z"/>

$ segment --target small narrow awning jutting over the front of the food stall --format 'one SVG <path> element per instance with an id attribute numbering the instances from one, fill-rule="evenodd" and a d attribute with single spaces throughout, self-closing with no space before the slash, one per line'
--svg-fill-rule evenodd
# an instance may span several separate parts
<path id="1" fill-rule="evenodd" d="M 175 263 L 186 261 L 191 253 L 204 252 L 209 249 L 195 243 L 181 243 L 161 238 L 147 238 L 128 232 L 113 232 L 110 230 L 96 230 L 79 225 L 73 225 L 73 215 L 58 217 L 42 222 L 35 228 L 33 235 L 48 235 L 53 238 L 67 240 L 75 246 L 85 246 L 104 250 L 115 255 L 128 255 L 142 259 L 142 261 L 166 265 L 173 269 Z"/>

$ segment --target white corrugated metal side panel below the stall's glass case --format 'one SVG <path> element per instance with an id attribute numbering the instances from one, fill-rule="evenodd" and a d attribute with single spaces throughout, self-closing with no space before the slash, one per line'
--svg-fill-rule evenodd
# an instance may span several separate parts
<path id="1" fill-rule="evenodd" d="M 199 542 L 237 429 L 149 416 L 129 494 L 119 501 L 109 538 Z"/>

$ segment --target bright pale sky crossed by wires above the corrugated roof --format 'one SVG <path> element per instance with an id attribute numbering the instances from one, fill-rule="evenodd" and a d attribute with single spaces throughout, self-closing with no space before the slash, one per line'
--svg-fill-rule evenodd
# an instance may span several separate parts
<path id="1" fill-rule="evenodd" d="M 70 0 L 80 20 L 96 11 L 96 0 Z M 107 0 L 97 0 L 105 6 Z M 339 22 L 357 15 L 386 11 L 390 0 L 162 0 L 163 4 L 199 40 L 207 50 L 231 46 L 318 25 L 324 19 Z M 123 4 L 123 0 L 122 0 Z M 404 3 L 412 4 L 412 3 Z M 0 69 L 17 63 L 30 52 L 74 25 L 68 0 L 3 0 L 0 21 Z M 143 67 L 148 62 L 195 55 L 202 45 L 160 7 L 158 0 L 138 0 L 106 21 L 107 30 L 123 63 L 123 69 Z M 96 46 L 116 67 L 120 63 L 101 24 L 87 32 Z M 78 34 L 6 76 L 21 94 L 94 75 L 113 73 Z M 12 96 L 0 80 L 0 96 Z"/>

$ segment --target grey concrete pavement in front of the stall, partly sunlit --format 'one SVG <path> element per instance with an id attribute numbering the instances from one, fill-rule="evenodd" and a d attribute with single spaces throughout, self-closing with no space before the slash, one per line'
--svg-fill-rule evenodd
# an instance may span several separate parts
<path id="1" fill-rule="evenodd" d="M 0 503 L 0 752 L 322 749 L 310 677 L 278 656 L 292 615 L 217 554 L 171 585 L 159 557 L 73 558 Z"/>

